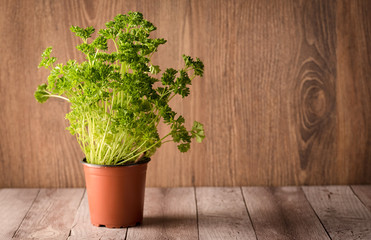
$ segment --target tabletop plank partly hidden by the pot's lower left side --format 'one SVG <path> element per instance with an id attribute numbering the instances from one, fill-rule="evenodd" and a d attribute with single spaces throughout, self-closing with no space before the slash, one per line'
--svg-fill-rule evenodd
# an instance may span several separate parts
<path id="1" fill-rule="evenodd" d="M 68 240 L 123 240 L 127 228 L 95 227 L 90 222 L 88 195 L 84 194 L 73 221 Z"/>

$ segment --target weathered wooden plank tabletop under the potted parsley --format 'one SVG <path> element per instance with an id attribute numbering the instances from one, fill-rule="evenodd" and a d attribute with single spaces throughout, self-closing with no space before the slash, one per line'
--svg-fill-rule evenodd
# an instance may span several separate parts
<path id="1" fill-rule="evenodd" d="M 147 188 L 141 226 L 90 224 L 85 189 L 0 189 L 0 239 L 371 239 L 371 186 Z"/>

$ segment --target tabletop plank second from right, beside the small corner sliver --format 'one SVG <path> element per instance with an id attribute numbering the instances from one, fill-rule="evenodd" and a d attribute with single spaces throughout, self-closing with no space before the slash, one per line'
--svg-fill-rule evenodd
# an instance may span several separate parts
<path id="1" fill-rule="evenodd" d="M 371 213 L 348 186 L 303 187 L 332 239 L 371 239 Z"/>

